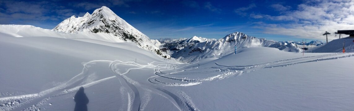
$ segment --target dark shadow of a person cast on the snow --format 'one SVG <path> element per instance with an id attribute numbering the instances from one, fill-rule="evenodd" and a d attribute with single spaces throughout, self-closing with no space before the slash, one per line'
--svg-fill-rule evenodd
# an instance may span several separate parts
<path id="1" fill-rule="evenodd" d="M 80 87 L 79 91 L 76 92 L 75 97 L 75 109 L 74 111 L 87 111 L 87 104 L 89 104 L 89 98 L 87 98 L 84 87 Z"/>

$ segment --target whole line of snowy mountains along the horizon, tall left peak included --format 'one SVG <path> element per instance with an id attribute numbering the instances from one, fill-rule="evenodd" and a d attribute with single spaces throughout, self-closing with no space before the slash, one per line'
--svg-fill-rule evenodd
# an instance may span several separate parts
<path id="1" fill-rule="evenodd" d="M 298 45 L 302 45 L 301 42 L 278 42 L 247 36 L 242 32 L 230 33 L 221 39 L 194 36 L 192 38 L 152 40 L 105 6 L 96 9 L 92 14 L 87 12 L 82 17 L 72 16 L 65 19 L 52 30 L 30 25 L 0 25 L 0 32 L 13 37 L 47 36 L 129 42 L 142 49 L 153 51 L 161 57 L 173 57 L 183 62 L 193 62 L 211 57 L 220 58 L 233 54 L 235 46 L 237 49 L 272 47 L 288 52 L 302 52 L 302 49 L 298 47 Z M 324 43 L 321 41 L 306 43 L 306 45 L 316 46 L 321 44 Z"/>

